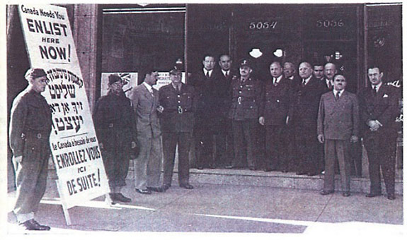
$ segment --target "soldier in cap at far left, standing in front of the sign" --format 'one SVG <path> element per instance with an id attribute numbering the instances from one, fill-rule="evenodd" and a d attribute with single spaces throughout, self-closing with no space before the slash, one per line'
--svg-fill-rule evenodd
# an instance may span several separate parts
<path id="1" fill-rule="evenodd" d="M 34 220 L 45 193 L 51 152 L 51 110 L 41 95 L 47 85 L 47 73 L 42 68 L 30 68 L 25 79 L 28 87 L 13 102 L 9 129 L 17 187 L 13 212 L 18 224 L 27 230 L 50 230 Z"/>

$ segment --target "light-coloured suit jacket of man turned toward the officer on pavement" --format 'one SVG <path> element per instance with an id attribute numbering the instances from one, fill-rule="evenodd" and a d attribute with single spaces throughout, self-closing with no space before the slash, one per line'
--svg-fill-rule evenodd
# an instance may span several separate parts
<path id="1" fill-rule="evenodd" d="M 144 84 L 138 85 L 132 92 L 132 103 L 136 114 L 137 136 L 156 138 L 161 135 L 157 107 L 159 91 L 152 88 L 153 94 Z"/>

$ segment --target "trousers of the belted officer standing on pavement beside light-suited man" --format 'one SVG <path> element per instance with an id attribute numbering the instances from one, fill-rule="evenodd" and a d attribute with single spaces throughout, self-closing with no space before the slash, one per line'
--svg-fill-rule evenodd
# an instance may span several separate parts
<path id="1" fill-rule="evenodd" d="M 178 145 L 178 184 L 189 184 L 189 150 L 193 137 L 190 132 L 163 132 L 164 185 L 171 186 L 173 168 Z"/>

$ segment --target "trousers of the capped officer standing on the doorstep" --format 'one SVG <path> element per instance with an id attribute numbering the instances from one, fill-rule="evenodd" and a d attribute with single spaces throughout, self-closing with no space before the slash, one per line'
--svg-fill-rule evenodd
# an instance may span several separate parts
<path id="1" fill-rule="evenodd" d="M 234 160 L 232 161 L 233 167 L 246 167 L 246 160 L 248 167 L 256 167 L 254 151 L 256 124 L 257 119 L 246 119 L 232 122 L 235 155 Z"/>

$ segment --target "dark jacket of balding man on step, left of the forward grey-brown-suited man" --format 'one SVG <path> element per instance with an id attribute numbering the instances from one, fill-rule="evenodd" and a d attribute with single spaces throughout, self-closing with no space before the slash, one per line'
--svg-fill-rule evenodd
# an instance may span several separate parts
<path id="1" fill-rule="evenodd" d="M 321 83 L 311 77 L 306 85 L 302 85 L 302 79 L 294 83 L 293 99 L 290 107 L 290 119 L 294 126 L 309 129 L 315 133 L 316 119 L 318 117 L 319 100 L 325 91 Z"/>

